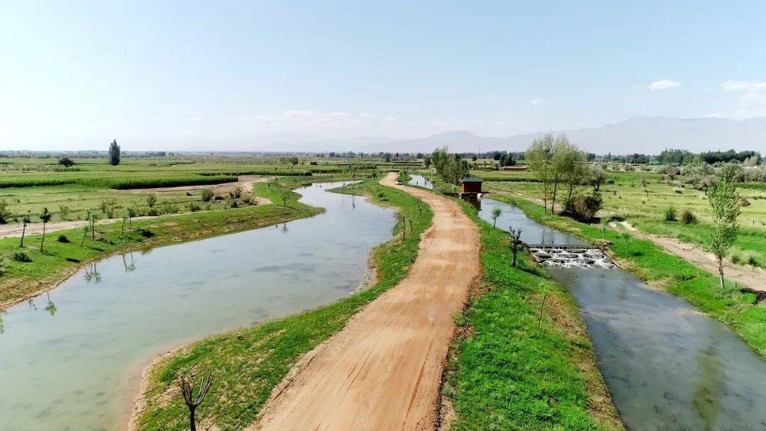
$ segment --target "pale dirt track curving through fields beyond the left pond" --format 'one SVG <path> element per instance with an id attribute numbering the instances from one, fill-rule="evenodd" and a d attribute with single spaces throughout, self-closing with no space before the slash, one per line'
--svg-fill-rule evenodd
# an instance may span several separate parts
<path id="1" fill-rule="evenodd" d="M 201 188 L 210 188 L 214 194 L 222 194 L 226 195 L 230 191 L 234 191 L 234 188 L 241 187 L 242 190 L 248 191 L 253 189 L 253 185 L 257 182 L 261 181 L 267 181 L 269 178 L 267 177 L 253 177 L 249 175 L 242 175 L 239 177 L 239 181 L 237 182 L 231 182 L 231 183 L 224 183 L 224 184 L 214 184 L 214 185 L 183 185 L 179 187 L 163 187 L 163 188 L 141 188 L 141 189 L 133 189 L 128 190 L 126 192 L 128 193 L 141 193 L 141 194 L 149 194 L 149 193 L 156 193 L 159 194 L 160 197 L 162 197 L 163 193 L 177 193 L 178 191 L 190 191 L 190 190 L 198 190 Z M 255 201 L 259 205 L 263 204 L 270 204 L 271 201 L 267 198 L 256 198 Z M 202 211 L 199 211 L 202 212 Z M 184 214 L 184 213 L 179 213 Z M 188 213 L 185 213 L 188 214 Z M 178 214 L 162 214 L 163 217 L 167 216 L 173 216 Z M 157 218 L 157 217 L 150 217 L 150 216 L 142 216 L 142 217 L 133 217 L 133 220 L 147 220 L 150 218 Z M 122 221 L 122 218 L 105 218 L 101 220 L 97 220 L 96 224 L 111 224 L 111 223 L 117 223 L 119 221 Z M 54 221 L 53 223 L 48 223 L 45 225 L 45 232 L 51 233 L 51 232 L 57 232 L 59 230 L 69 230 L 69 229 L 77 229 L 78 227 L 83 227 L 87 224 L 86 220 L 69 220 L 69 221 Z M 21 237 L 21 231 L 23 229 L 23 226 L 21 224 L 0 224 L 0 239 L 7 238 L 7 237 Z M 25 232 L 26 235 L 34 235 L 35 233 L 42 233 L 43 232 L 43 225 L 41 223 L 33 223 L 27 225 L 27 230 Z"/>

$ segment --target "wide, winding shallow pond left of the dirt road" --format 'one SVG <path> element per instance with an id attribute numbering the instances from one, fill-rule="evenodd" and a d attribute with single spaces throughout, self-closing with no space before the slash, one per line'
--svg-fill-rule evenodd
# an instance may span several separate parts
<path id="1" fill-rule="evenodd" d="M 0 429 L 119 429 L 136 371 L 174 344 L 349 295 L 393 211 L 298 190 L 326 213 L 276 227 L 100 261 L 8 309 L 0 334 Z M 52 304 L 52 306 L 51 306 Z M 54 308 L 53 308 L 54 307 Z"/>

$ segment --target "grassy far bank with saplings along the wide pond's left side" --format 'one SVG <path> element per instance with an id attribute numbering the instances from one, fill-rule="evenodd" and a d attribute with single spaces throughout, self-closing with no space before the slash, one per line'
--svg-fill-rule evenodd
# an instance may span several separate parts
<path id="1" fill-rule="evenodd" d="M 3 261 L 0 305 L 18 302 L 47 289 L 84 263 L 112 253 L 270 226 L 319 212 L 317 208 L 300 204 L 296 200 L 299 195 L 289 191 L 299 185 L 297 181 L 281 181 L 280 184 L 258 183 L 254 187 L 253 193 L 269 198 L 271 204 L 135 220 L 132 229 L 125 227 L 124 230 L 122 223 L 97 225 L 95 238 L 92 233 L 84 234 L 82 229 L 62 230 L 46 235 L 42 251 L 42 235 L 25 238 L 23 248 L 19 247 L 20 238 L 0 240 Z M 282 191 L 289 192 L 290 200 L 286 206 L 280 199 Z M 25 258 L 21 258 L 22 255 Z"/>

